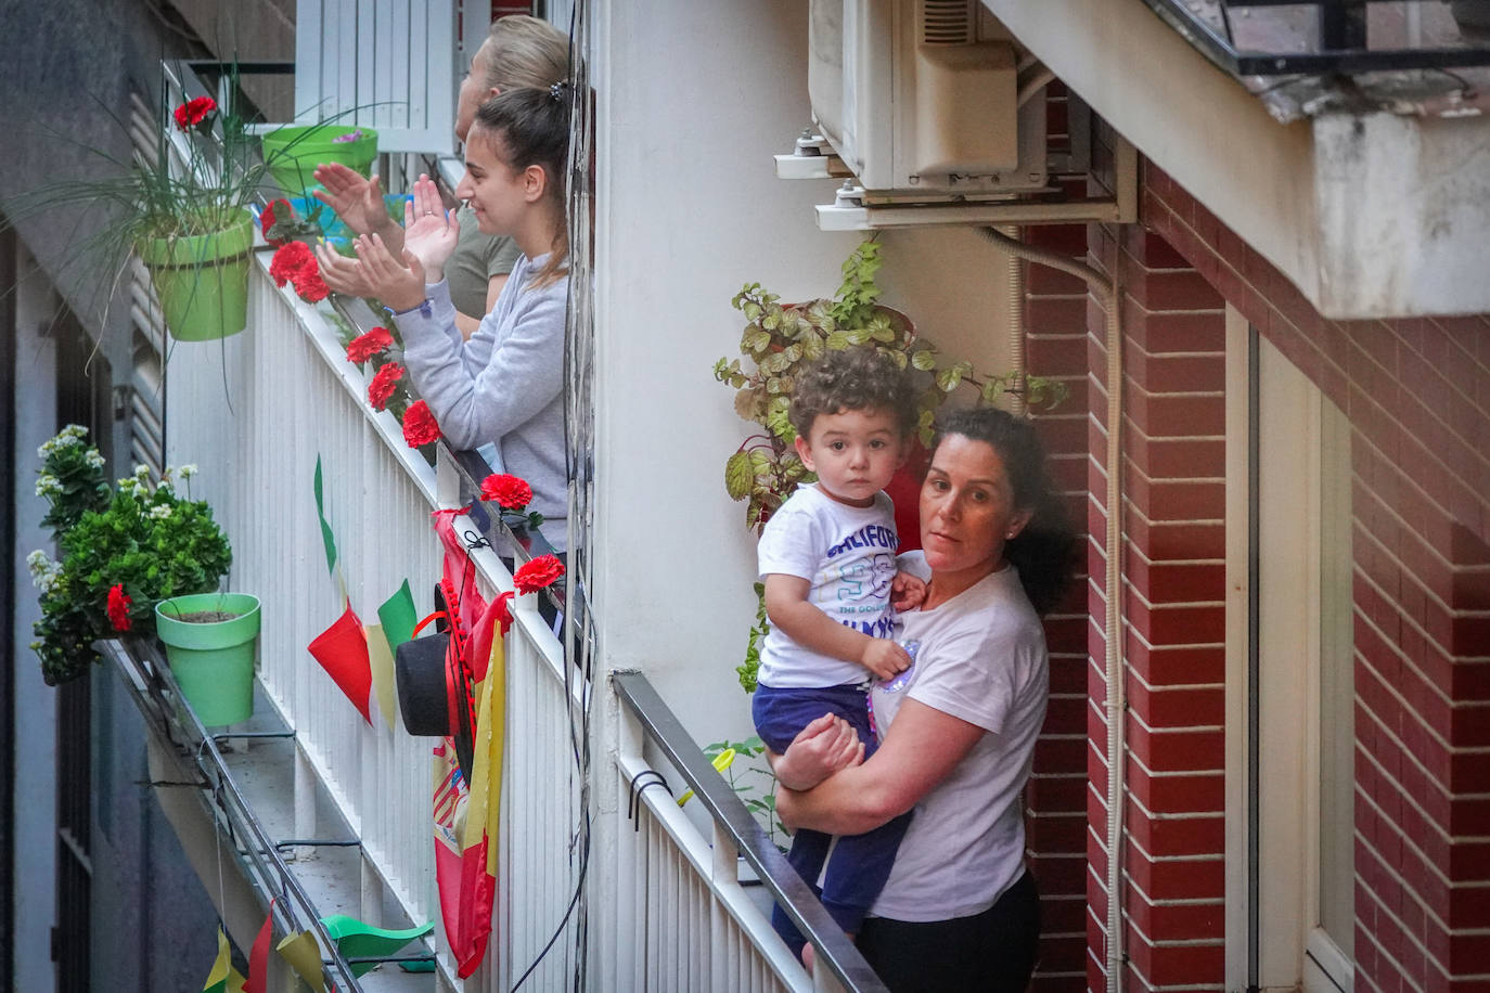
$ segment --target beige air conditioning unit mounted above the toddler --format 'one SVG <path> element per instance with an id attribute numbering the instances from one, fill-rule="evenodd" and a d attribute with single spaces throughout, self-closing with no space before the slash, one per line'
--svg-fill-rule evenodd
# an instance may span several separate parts
<path id="1" fill-rule="evenodd" d="M 1015 46 L 977 0 L 811 0 L 821 134 L 872 194 L 1043 189 L 1044 97 L 1019 106 Z"/>

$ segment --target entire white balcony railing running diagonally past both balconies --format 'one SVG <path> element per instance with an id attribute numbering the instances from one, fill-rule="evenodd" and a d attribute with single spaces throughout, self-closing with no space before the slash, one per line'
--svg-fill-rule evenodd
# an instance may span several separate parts
<path id="1" fill-rule="evenodd" d="M 294 741 L 294 774 L 276 822 L 292 825 L 291 840 L 349 832 L 356 841 L 359 878 L 343 892 L 359 907 L 338 911 L 377 923 L 378 910 L 396 904 L 411 922 L 438 922 L 432 741 L 390 729 L 377 710 L 365 722 L 305 646 L 347 603 L 368 619 L 404 579 L 432 588 L 443 548 L 431 512 L 468 505 L 484 463 L 443 442 L 435 464 L 410 450 L 395 418 L 368 406 L 368 374 L 346 360 L 343 338 L 367 331 L 371 311 L 308 305 L 276 289 L 267 269 L 262 250 L 246 332 L 170 351 L 167 460 L 198 464 L 192 496 L 212 503 L 234 548 L 228 585 L 262 601 L 262 698 L 294 731 L 280 738 L 280 747 Z M 317 462 L 344 587 L 322 552 Z M 517 560 L 547 551 L 541 534 L 495 527 L 492 545 Z M 456 531 L 468 530 L 481 529 L 457 518 Z M 471 558 L 483 596 L 513 588 L 493 548 Z M 428 593 L 417 598 L 429 606 Z M 566 662 L 536 596 L 519 597 L 514 615 L 492 938 L 484 965 L 460 983 L 437 929 L 446 983 L 483 992 L 882 989 L 647 679 L 615 677 L 624 716 L 611 719 L 612 686 Z M 596 710 L 605 716 L 592 725 Z M 593 770 L 592 753 L 603 756 Z M 702 822 L 645 789 L 663 776 L 670 792 L 697 792 Z M 627 820 L 620 798 L 633 788 Z M 322 795 L 334 808 L 322 819 L 334 825 L 317 823 Z M 592 829 L 608 844 L 592 850 Z M 763 881 L 754 893 L 736 856 Z M 818 945 L 817 981 L 770 929 L 773 898 Z"/>

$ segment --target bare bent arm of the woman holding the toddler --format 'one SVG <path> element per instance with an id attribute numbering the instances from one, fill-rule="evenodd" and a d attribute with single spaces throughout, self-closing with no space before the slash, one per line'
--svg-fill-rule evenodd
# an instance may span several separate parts
<path id="1" fill-rule="evenodd" d="M 845 768 L 805 792 L 779 788 L 776 813 L 782 823 L 794 828 L 827 834 L 873 831 L 915 807 L 985 734 L 976 724 L 919 700 L 906 700 L 884 744 L 867 762 Z"/>

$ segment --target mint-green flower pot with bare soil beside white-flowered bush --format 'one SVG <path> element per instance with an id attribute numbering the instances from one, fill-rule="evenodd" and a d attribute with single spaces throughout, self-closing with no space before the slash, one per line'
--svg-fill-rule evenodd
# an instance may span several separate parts
<path id="1" fill-rule="evenodd" d="M 234 613 L 226 621 L 183 621 L 204 610 Z M 253 649 L 259 598 L 247 593 L 198 593 L 155 604 L 155 633 L 165 643 L 176 685 L 206 727 L 253 716 Z"/>

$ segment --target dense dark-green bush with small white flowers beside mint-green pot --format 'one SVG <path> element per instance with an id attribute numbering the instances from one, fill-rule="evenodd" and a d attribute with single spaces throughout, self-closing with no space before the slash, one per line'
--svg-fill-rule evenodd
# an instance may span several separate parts
<path id="1" fill-rule="evenodd" d="M 119 633 L 153 633 L 155 604 L 167 597 L 209 593 L 228 572 L 232 552 L 206 500 L 191 500 L 195 466 L 167 469 L 150 482 L 149 469 L 110 488 L 104 460 L 76 424 L 40 447 L 36 491 L 49 503 L 60 558 L 27 557 L 40 591 L 42 619 L 33 651 L 42 676 L 57 685 L 80 676 L 98 654 L 92 642 Z M 180 481 L 188 496 L 176 493 Z"/>

